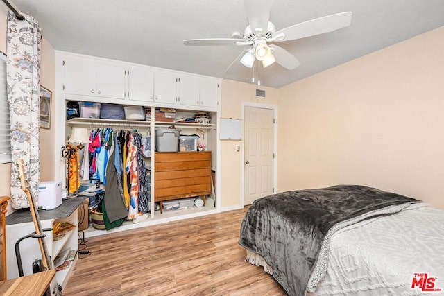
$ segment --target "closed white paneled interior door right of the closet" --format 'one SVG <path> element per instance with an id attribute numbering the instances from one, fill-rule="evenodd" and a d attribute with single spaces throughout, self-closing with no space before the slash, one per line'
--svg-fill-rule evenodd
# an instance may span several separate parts
<path id="1" fill-rule="evenodd" d="M 244 204 L 273 193 L 274 110 L 245 107 Z"/>

